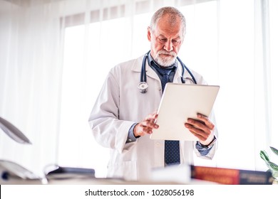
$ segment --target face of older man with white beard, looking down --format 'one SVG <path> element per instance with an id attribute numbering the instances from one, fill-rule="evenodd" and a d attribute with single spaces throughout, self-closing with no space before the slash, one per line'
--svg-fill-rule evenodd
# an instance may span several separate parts
<path id="1" fill-rule="evenodd" d="M 168 18 L 168 15 L 160 18 L 155 30 L 151 31 L 150 27 L 148 28 L 150 54 L 155 62 L 163 67 L 175 63 L 175 58 L 177 58 L 183 42 L 180 18 L 177 18 L 174 24 L 171 24 Z"/>

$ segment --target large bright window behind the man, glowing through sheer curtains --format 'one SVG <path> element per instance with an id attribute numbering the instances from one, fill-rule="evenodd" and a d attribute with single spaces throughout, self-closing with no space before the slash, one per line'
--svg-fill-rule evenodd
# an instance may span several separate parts
<path id="1" fill-rule="evenodd" d="M 263 6 L 257 1 L 180 6 L 187 18 L 180 58 L 208 84 L 220 85 L 215 105 L 220 133 L 217 155 L 213 161 L 196 159 L 197 164 L 264 170 L 259 150 L 278 145 L 274 133 L 278 5 L 276 1 L 269 4 L 269 37 L 262 35 L 268 18 L 262 16 Z M 93 140 L 88 116 L 108 70 L 150 48 L 147 27 L 151 15 L 140 12 L 65 29 L 58 156 L 62 165 L 93 167 L 97 176 L 105 176 L 108 149 Z M 266 60 L 266 52 L 273 59 Z"/>

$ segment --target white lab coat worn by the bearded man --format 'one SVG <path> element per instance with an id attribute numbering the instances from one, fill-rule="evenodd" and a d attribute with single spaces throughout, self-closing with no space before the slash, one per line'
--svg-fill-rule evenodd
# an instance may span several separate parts
<path id="1" fill-rule="evenodd" d="M 138 90 L 142 61 L 143 56 L 120 63 L 110 70 L 89 118 L 96 141 L 110 148 L 108 177 L 145 181 L 153 168 L 164 166 L 164 141 L 145 135 L 126 143 L 130 127 L 155 112 L 162 97 L 160 79 L 148 62 L 145 67 L 148 92 L 143 94 Z M 191 72 L 197 84 L 206 84 L 201 75 Z M 181 74 L 182 66 L 178 63 L 173 82 L 182 83 Z M 186 70 L 184 77 L 191 79 Z M 186 83 L 193 82 L 186 80 Z M 217 144 L 202 158 L 212 158 L 216 147 Z M 200 156 L 195 149 L 195 141 L 180 141 L 181 164 L 193 164 L 193 151 Z"/>

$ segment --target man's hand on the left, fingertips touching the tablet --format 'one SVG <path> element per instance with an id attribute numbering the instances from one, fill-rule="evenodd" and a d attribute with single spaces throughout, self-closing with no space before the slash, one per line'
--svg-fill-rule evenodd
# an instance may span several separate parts
<path id="1" fill-rule="evenodd" d="M 133 134 L 135 137 L 144 136 L 145 134 L 152 134 L 153 129 L 158 129 L 158 124 L 155 124 L 155 119 L 158 118 L 158 114 L 154 112 L 153 114 L 149 114 L 145 119 L 136 124 L 133 129 Z"/>

